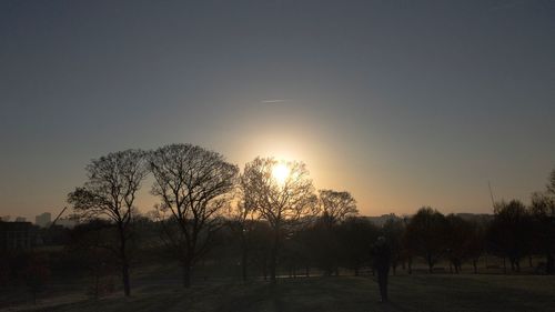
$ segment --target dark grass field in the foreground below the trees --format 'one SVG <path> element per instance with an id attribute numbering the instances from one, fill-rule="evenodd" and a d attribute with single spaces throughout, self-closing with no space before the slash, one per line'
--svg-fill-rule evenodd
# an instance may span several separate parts
<path id="1" fill-rule="evenodd" d="M 77 300 L 7 311 L 554 311 L 553 276 L 401 275 L 379 303 L 372 278 L 310 278 L 193 286 L 151 285 L 132 298 Z"/>

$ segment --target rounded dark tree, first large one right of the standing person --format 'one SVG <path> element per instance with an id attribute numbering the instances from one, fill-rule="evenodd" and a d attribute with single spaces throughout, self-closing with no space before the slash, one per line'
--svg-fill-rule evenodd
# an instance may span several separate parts
<path id="1" fill-rule="evenodd" d="M 447 222 L 445 217 L 430 207 L 421 208 L 406 227 L 406 243 L 415 255 L 422 256 L 430 273 L 445 254 Z"/>

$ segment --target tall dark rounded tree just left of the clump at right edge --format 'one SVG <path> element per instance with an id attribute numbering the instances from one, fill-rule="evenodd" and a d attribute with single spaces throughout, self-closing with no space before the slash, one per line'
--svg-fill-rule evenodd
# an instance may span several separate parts
<path id="1" fill-rule="evenodd" d="M 521 259 L 529 251 L 532 219 L 526 207 L 517 201 L 495 204 L 495 215 L 488 228 L 492 251 L 511 262 L 513 271 L 521 271 Z"/>

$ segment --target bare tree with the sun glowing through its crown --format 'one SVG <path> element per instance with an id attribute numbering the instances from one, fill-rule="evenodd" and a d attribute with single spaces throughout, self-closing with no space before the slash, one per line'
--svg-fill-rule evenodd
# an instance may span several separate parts
<path id="1" fill-rule="evenodd" d="M 287 172 L 276 175 L 275 169 Z M 256 158 L 245 164 L 241 177 L 244 202 L 253 207 L 272 232 L 270 278 L 275 283 L 278 255 L 282 238 L 294 225 L 316 214 L 316 197 L 306 165 L 302 162 L 280 163 L 273 158 Z"/>

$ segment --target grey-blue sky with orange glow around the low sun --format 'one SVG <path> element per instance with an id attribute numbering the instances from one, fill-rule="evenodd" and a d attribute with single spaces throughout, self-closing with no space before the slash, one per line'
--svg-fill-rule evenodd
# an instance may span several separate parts
<path id="1" fill-rule="evenodd" d="M 552 0 L 0 1 L 0 215 L 168 143 L 303 161 L 365 215 L 491 213 L 488 182 L 545 189 L 554 117 Z"/>

